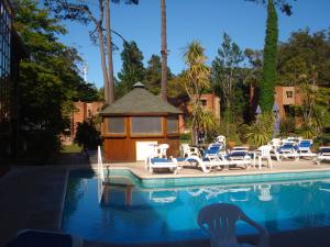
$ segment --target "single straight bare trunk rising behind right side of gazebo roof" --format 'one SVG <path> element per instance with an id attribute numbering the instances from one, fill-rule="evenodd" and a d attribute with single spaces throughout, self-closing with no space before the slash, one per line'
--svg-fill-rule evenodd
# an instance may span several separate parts
<path id="1" fill-rule="evenodd" d="M 165 0 L 161 0 L 161 54 L 162 54 L 162 88 L 161 94 L 164 101 L 167 101 L 167 44 L 166 44 L 166 5 Z"/>

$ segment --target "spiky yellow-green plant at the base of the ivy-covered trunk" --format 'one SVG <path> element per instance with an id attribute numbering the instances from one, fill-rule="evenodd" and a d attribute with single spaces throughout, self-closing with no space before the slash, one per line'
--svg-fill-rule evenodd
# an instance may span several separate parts
<path id="1" fill-rule="evenodd" d="M 240 127 L 240 132 L 245 138 L 248 138 L 249 143 L 258 147 L 267 144 L 271 141 L 273 135 L 273 113 L 262 113 L 252 124 L 243 124 Z"/>

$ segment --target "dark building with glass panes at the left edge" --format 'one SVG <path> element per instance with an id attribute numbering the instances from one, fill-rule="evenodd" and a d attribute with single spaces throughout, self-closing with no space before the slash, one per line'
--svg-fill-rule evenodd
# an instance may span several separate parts
<path id="1" fill-rule="evenodd" d="M 10 2 L 0 0 L 0 156 L 19 150 L 19 65 L 29 56 L 12 16 Z"/>

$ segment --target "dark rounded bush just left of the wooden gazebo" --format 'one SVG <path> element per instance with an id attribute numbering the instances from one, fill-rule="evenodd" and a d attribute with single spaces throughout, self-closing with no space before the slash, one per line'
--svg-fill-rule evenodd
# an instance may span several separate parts
<path id="1" fill-rule="evenodd" d="M 100 132 L 96 127 L 95 120 L 90 117 L 82 123 L 78 123 L 75 143 L 82 146 L 82 150 L 95 150 L 101 145 Z"/>

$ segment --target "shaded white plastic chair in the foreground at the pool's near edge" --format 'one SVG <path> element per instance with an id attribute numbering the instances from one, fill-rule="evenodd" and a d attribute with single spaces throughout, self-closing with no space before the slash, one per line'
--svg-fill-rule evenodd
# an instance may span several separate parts
<path id="1" fill-rule="evenodd" d="M 248 247 L 252 244 L 239 244 L 235 236 L 235 223 L 246 222 L 260 232 L 258 247 L 268 246 L 267 231 L 248 217 L 234 204 L 216 203 L 202 207 L 198 213 L 198 225 L 210 235 L 212 247 Z"/>

